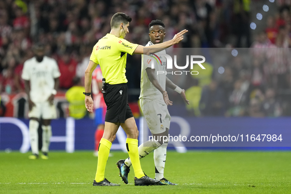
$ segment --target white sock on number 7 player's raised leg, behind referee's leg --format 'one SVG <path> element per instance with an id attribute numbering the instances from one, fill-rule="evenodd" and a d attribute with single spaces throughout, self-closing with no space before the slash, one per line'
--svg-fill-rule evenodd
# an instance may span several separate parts
<path id="1" fill-rule="evenodd" d="M 151 153 L 153 150 L 160 147 L 161 144 L 158 141 L 146 141 L 140 146 L 138 146 L 138 154 L 139 159 L 142 159 L 143 157 L 147 156 L 149 153 Z M 129 158 L 127 158 L 124 162 L 127 166 L 131 166 L 131 161 Z"/>

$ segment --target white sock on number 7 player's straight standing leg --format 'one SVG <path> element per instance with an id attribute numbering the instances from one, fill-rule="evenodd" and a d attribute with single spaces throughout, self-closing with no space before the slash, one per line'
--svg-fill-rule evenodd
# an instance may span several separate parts
<path id="1" fill-rule="evenodd" d="M 163 178 L 163 169 L 166 162 L 167 156 L 167 146 L 168 142 L 163 143 L 158 149 L 154 151 L 154 161 L 156 166 L 156 176 L 157 180 Z"/>

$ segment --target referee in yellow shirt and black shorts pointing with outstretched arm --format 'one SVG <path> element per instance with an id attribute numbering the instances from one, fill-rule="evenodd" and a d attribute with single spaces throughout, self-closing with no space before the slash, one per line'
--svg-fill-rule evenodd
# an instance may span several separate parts
<path id="1" fill-rule="evenodd" d="M 107 87 L 103 94 L 107 105 L 105 115 L 105 129 L 98 147 L 98 164 L 93 186 L 120 186 L 110 183 L 104 178 L 104 171 L 109 151 L 121 126 L 127 134 L 126 146 L 134 169 L 134 185 L 155 185 L 160 180 L 146 176 L 140 166 L 138 155 L 138 130 L 128 105 L 126 72 L 127 53 L 146 54 L 159 52 L 183 40 L 183 30 L 177 33 L 172 40 L 152 45 L 144 53 L 144 46 L 130 43 L 124 37 L 129 33 L 131 18 L 125 13 L 116 13 L 112 16 L 111 31 L 102 37 L 94 46 L 89 65 L 85 71 L 85 105 L 89 112 L 93 112 L 93 99 L 91 97 L 92 72 L 99 64 Z"/>

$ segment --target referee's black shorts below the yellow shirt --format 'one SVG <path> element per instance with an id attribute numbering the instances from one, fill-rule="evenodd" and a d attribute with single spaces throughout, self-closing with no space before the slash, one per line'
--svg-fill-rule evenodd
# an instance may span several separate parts
<path id="1" fill-rule="evenodd" d="M 103 94 L 107 105 L 105 122 L 124 123 L 133 117 L 128 104 L 128 87 L 126 84 L 108 85 Z"/>

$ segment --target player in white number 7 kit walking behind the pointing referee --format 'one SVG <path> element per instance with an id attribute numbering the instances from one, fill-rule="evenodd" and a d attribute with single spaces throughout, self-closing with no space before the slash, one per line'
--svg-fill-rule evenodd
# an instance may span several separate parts
<path id="1" fill-rule="evenodd" d="M 161 20 L 154 20 L 149 24 L 150 40 L 146 46 L 162 43 L 165 37 L 164 24 Z M 153 54 L 158 62 L 151 56 L 142 55 L 141 66 L 141 83 L 140 83 L 140 106 L 142 108 L 144 117 L 155 139 L 161 141 L 146 141 L 138 147 L 139 158 L 147 156 L 154 151 L 154 160 L 156 167 L 155 178 L 160 180 L 159 185 L 176 185 L 171 183 L 163 176 L 163 170 L 166 160 L 166 148 L 168 142 L 163 142 L 162 136 L 168 136 L 171 116 L 168 112 L 167 105 L 172 105 L 169 100 L 165 87 L 169 87 L 179 94 L 184 101 L 189 104 L 186 99 L 185 90 L 182 90 L 171 80 L 169 80 L 165 73 L 157 76 L 157 71 L 166 70 L 166 59 L 162 54 L 166 54 L 165 50 Z M 159 58 L 159 59 L 158 59 Z M 154 61 L 155 68 L 152 67 Z M 144 72 L 146 71 L 146 73 Z M 128 183 L 129 167 L 131 166 L 130 159 L 120 160 L 117 162 L 120 170 L 120 176 L 125 183 Z"/>

